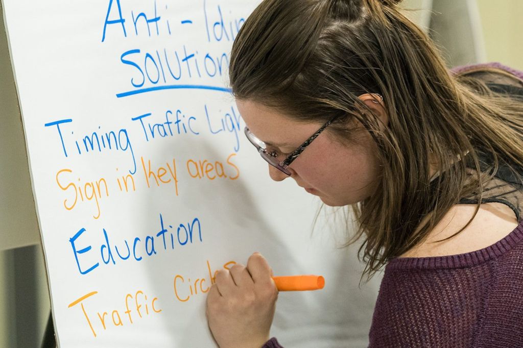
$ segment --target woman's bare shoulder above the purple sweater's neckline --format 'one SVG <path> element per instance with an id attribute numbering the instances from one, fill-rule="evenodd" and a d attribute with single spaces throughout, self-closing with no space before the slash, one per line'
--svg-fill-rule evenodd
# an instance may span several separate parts
<path id="1" fill-rule="evenodd" d="M 401 257 L 433 257 L 456 255 L 480 250 L 506 237 L 518 225 L 514 212 L 503 203 L 485 203 L 460 234 L 448 240 L 474 215 L 473 204 L 457 204 L 430 231 L 426 240 Z"/>

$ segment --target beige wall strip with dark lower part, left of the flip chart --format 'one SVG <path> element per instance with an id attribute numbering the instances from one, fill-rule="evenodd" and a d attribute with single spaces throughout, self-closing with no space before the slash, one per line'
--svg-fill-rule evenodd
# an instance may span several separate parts
<path id="1" fill-rule="evenodd" d="M 49 293 L 0 4 L 0 347 L 38 347 Z"/>

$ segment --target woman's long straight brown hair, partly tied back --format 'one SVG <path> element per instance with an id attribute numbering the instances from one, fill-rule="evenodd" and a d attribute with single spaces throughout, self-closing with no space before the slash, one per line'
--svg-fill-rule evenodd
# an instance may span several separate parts
<path id="1" fill-rule="evenodd" d="M 363 237 L 368 275 L 422 241 L 461 197 L 481 193 L 499 163 L 523 166 L 521 100 L 450 74 L 396 3 L 266 0 L 245 21 L 230 63 L 236 98 L 304 122 L 337 115 L 327 130 L 345 141 L 354 120 L 372 135 L 382 173 L 377 192 L 354 206 L 360 228 L 351 239 Z M 365 93 L 383 96 L 384 130 L 357 98 Z M 491 168 L 480 170 L 480 151 L 493 155 Z M 444 169 L 433 181 L 429 160 Z"/>

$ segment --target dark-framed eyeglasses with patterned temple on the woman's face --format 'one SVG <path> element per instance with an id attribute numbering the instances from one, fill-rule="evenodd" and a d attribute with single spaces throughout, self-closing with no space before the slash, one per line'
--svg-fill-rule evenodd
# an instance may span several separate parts
<path id="1" fill-rule="evenodd" d="M 282 155 L 281 155 L 281 153 L 279 153 L 278 150 L 276 150 L 276 149 L 274 149 L 274 150 L 268 149 L 267 145 L 263 141 L 259 140 L 251 131 L 249 131 L 249 129 L 247 127 L 245 127 L 245 135 L 247 136 L 247 139 L 249 140 L 249 142 L 251 142 L 256 147 L 256 149 L 258 150 L 261 158 L 265 159 L 267 161 L 267 163 L 270 164 L 271 166 L 281 170 L 282 172 L 284 172 L 284 173 L 286 173 L 287 175 L 290 176 L 291 172 L 289 171 L 289 169 L 287 169 L 290 166 L 290 164 L 296 158 L 298 158 L 298 156 L 300 156 L 300 154 L 303 152 L 303 150 L 307 146 L 309 146 L 313 142 L 313 140 L 318 135 L 320 135 L 321 132 L 323 132 L 326 129 L 326 127 L 328 127 L 328 125 L 331 124 L 336 118 L 337 118 L 337 116 L 335 116 L 331 120 L 327 121 L 327 123 L 325 123 L 319 130 L 317 130 L 316 133 L 311 135 L 310 138 L 305 140 L 303 142 L 303 144 L 301 144 L 297 149 L 295 149 L 293 152 L 291 152 L 283 160 L 280 160 L 280 157 Z"/>

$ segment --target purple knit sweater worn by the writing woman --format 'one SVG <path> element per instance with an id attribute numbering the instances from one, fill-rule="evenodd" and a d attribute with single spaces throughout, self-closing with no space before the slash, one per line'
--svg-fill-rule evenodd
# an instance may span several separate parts
<path id="1" fill-rule="evenodd" d="M 523 78 L 499 63 L 481 66 Z M 389 261 L 369 346 L 523 347 L 523 219 L 505 238 L 481 250 Z M 282 346 L 272 338 L 263 348 Z"/>

